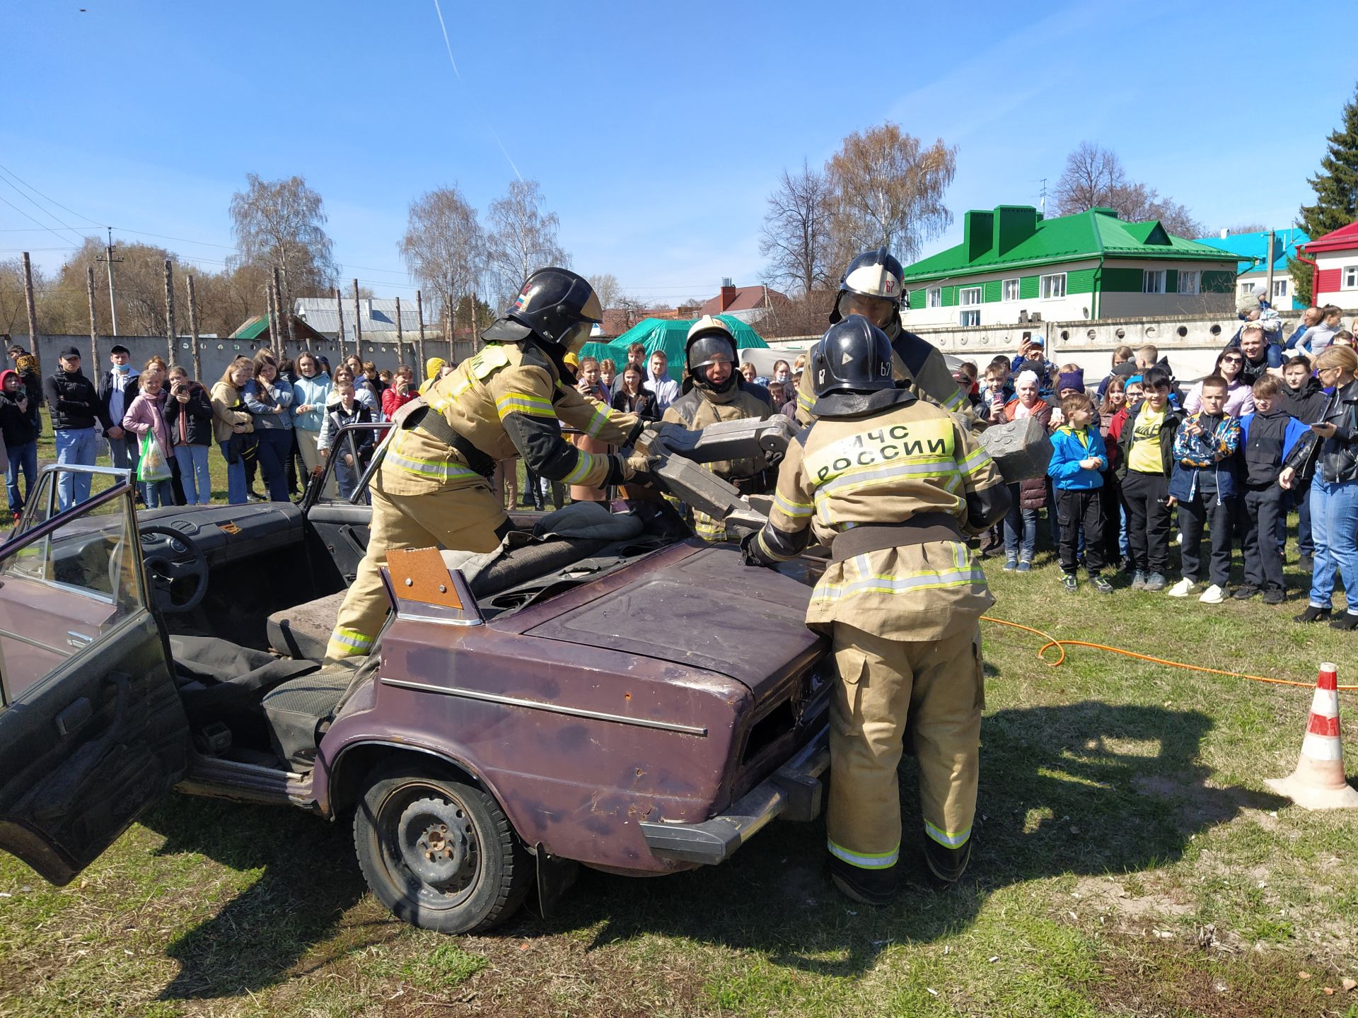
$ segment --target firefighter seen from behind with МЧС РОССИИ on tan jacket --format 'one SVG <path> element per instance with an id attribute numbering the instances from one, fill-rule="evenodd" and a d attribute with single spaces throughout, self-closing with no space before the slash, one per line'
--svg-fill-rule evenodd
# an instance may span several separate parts
<path id="1" fill-rule="evenodd" d="M 830 327 L 811 356 L 816 422 L 788 448 L 750 565 L 797 555 L 815 532 L 831 562 L 807 623 L 834 641 L 827 835 L 843 893 L 881 904 L 900 855 L 896 764 L 909 732 L 923 848 L 937 881 L 971 854 L 980 738 L 980 633 L 993 603 L 964 533 L 1004 517 L 1009 491 L 972 434 L 892 381 L 868 319 Z"/>

